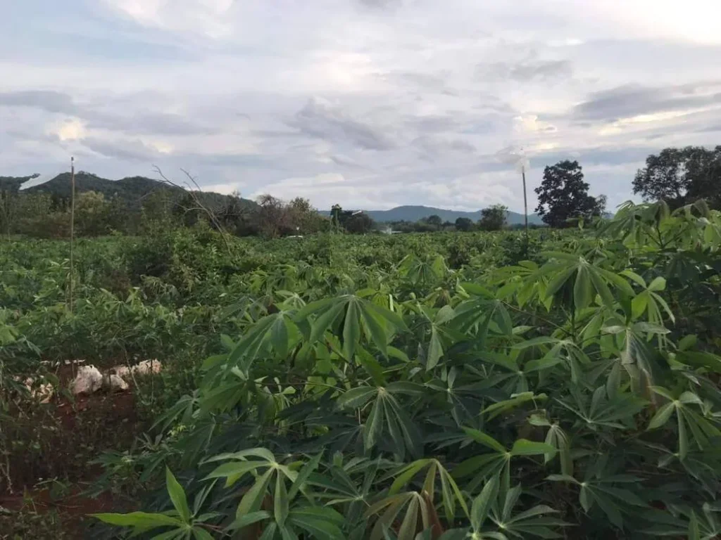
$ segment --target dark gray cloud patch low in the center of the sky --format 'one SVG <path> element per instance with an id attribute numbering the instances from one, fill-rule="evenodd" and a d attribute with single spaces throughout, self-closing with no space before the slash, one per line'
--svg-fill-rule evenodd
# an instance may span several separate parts
<path id="1" fill-rule="evenodd" d="M 396 146 L 381 130 L 317 98 L 309 99 L 288 125 L 314 138 L 347 142 L 366 150 L 391 150 Z"/>

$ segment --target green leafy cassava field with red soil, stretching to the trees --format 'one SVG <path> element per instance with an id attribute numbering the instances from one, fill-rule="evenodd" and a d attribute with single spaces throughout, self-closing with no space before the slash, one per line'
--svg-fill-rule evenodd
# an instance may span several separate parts
<path id="1" fill-rule="evenodd" d="M 528 244 L 158 230 L 72 274 L 4 239 L 0 270 L 0 539 L 721 535 L 703 204 Z M 162 371 L 74 395 L 79 360 Z"/>

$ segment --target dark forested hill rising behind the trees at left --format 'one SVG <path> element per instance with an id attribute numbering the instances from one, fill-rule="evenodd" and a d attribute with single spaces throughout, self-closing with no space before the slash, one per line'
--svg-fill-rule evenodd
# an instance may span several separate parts
<path id="1" fill-rule="evenodd" d="M 34 176 L 0 176 L 0 189 L 17 191 L 22 184 L 33 177 Z M 71 192 L 70 173 L 58 174 L 58 176 L 43 182 L 43 184 L 37 184 L 22 191 L 29 194 L 46 193 L 53 197 L 67 199 L 70 197 Z M 106 199 L 118 197 L 132 207 L 139 206 L 143 197 L 152 192 L 167 191 L 172 197 L 178 198 L 183 194 L 183 190 L 179 187 L 170 186 L 164 182 L 144 176 L 130 176 L 120 180 L 110 180 L 85 172 L 80 172 L 75 175 L 75 191 L 76 194 L 84 192 L 101 193 Z M 223 207 L 228 201 L 228 196 L 220 193 L 200 192 L 199 196 L 203 204 L 214 208 Z M 248 199 L 241 200 L 248 207 L 256 206 L 253 201 Z"/>

